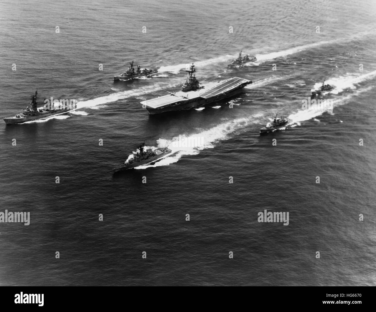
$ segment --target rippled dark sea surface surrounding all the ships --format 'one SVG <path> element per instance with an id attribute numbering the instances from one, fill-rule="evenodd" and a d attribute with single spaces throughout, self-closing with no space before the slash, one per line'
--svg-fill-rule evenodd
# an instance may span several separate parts
<path id="1" fill-rule="evenodd" d="M 375 21 L 373 0 L 0 1 L 1 118 L 36 88 L 79 107 L 0 125 L 0 212 L 30 212 L 0 223 L 0 285 L 375 285 Z M 227 68 L 241 49 L 258 62 Z M 132 60 L 159 72 L 114 84 Z M 253 84 L 149 116 L 192 62 Z M 303 110 L 324 79 L 332 112 Z M 174 154 L 113 176 L 143 141 Z"/>

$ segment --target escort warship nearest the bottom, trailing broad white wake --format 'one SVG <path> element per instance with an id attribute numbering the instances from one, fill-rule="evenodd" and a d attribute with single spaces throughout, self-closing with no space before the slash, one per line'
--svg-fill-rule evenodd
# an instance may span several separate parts
<path id="1" fill-rule="evenodd" d="M 172 152 L 171 149 L 168 148 L 148 148 L 145 151 L 144 145 L 145 143 L 142 143 L 140 146 L 138 146 L 138 151 L 133 152 L 132 156 L 130 156 L 120 166 L 117 166 L 116 168 L 112 169 L 112 172 L 115 173 L 118 171 L 128 170 L 138 166 L 142 166 L 144 164 L 149 164 L 157 160 L 158 158 L 161 158 Z"/>

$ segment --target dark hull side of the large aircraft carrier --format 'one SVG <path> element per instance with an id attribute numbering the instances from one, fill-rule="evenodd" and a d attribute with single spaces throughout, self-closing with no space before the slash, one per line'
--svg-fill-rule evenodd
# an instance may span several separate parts
<path id="1" fill-rule="evenodd" d="M 174 103 L 170 106 L 165 106 L 165 107 L 161 107 L 161 108 L 157 108 L 157 109 L 146 106 L 146 109 L 148 110 L 149 115 L 155 115 L 155 114 L 159 114 L 159 113 L 166 113 L 166 112 L 173 112 L 173 111 L 178 111 L 178 110 L 192 109 L 192 108 L 195 108 L 195 107 L 201 107 L 201 106 L 205 106 L 207 104 L 210 104 L 212 102 L 221 101 L 223 99 L 229 98 L 230 96 L 233 96 L 235 94 L 243 92 L 244 91 L 243 87 L 245 87 L 245 86 L 246 86 L 246 84 L 238 87 L 237 89 L 230 90 L 227 93 L 221 93 L 218 96 L 213 96 L 213 97 L 207 98 L 207 99 L 197 97 L 197 98 L 190 99 L 188 101 L 177 102 L 177 103 Z"/>

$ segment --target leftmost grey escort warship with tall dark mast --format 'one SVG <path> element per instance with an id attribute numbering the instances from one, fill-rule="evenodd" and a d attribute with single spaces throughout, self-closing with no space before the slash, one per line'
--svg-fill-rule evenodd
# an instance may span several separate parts
<path id="1" fill-rule="evenodd" d="M 5 123 L 7 125 L 10 124 L 17 124 L 20 122 L 35 120 L 35 119 L 41 119 L 50 117 L 57 114 L 62 113 L 68 113 L 71 110 L 74 110 L 76 108 L 75 104 L 67 103 L 65 104 L 66 107 L 61 106 L 59 109 L 55 109 L 53 106 L 53 109 L 48 109 L 47 107 L 39 108 L 38 109 L 38 103 L 36 102 L 36 95 L 38 94 L 38 90 L 35 91 L 35 95 L 32 96 L 32 101 L 30 102 L 30 107 L 27 106 L 26 109 L 24 109 L 21 113 L 16 114 L 13 117 L 6 117 L 3 118 Z"/>

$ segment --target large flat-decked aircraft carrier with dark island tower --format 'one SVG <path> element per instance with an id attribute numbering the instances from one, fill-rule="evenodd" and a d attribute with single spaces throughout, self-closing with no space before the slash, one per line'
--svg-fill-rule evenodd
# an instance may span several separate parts
<path id="1" fill-rule="evenodd" d="M 142 101 L 141 104 L 149 111 L 150 115 L 182 109 L 191 109 L 211 102 L 219 101 L 241 91 L 252 81 L 234 77 L 220 82 L 200 84 L 193 72 L 195 66 L 190 66 L 188 79 L 181 91 L 168 92 L 168 95 Z"/>

